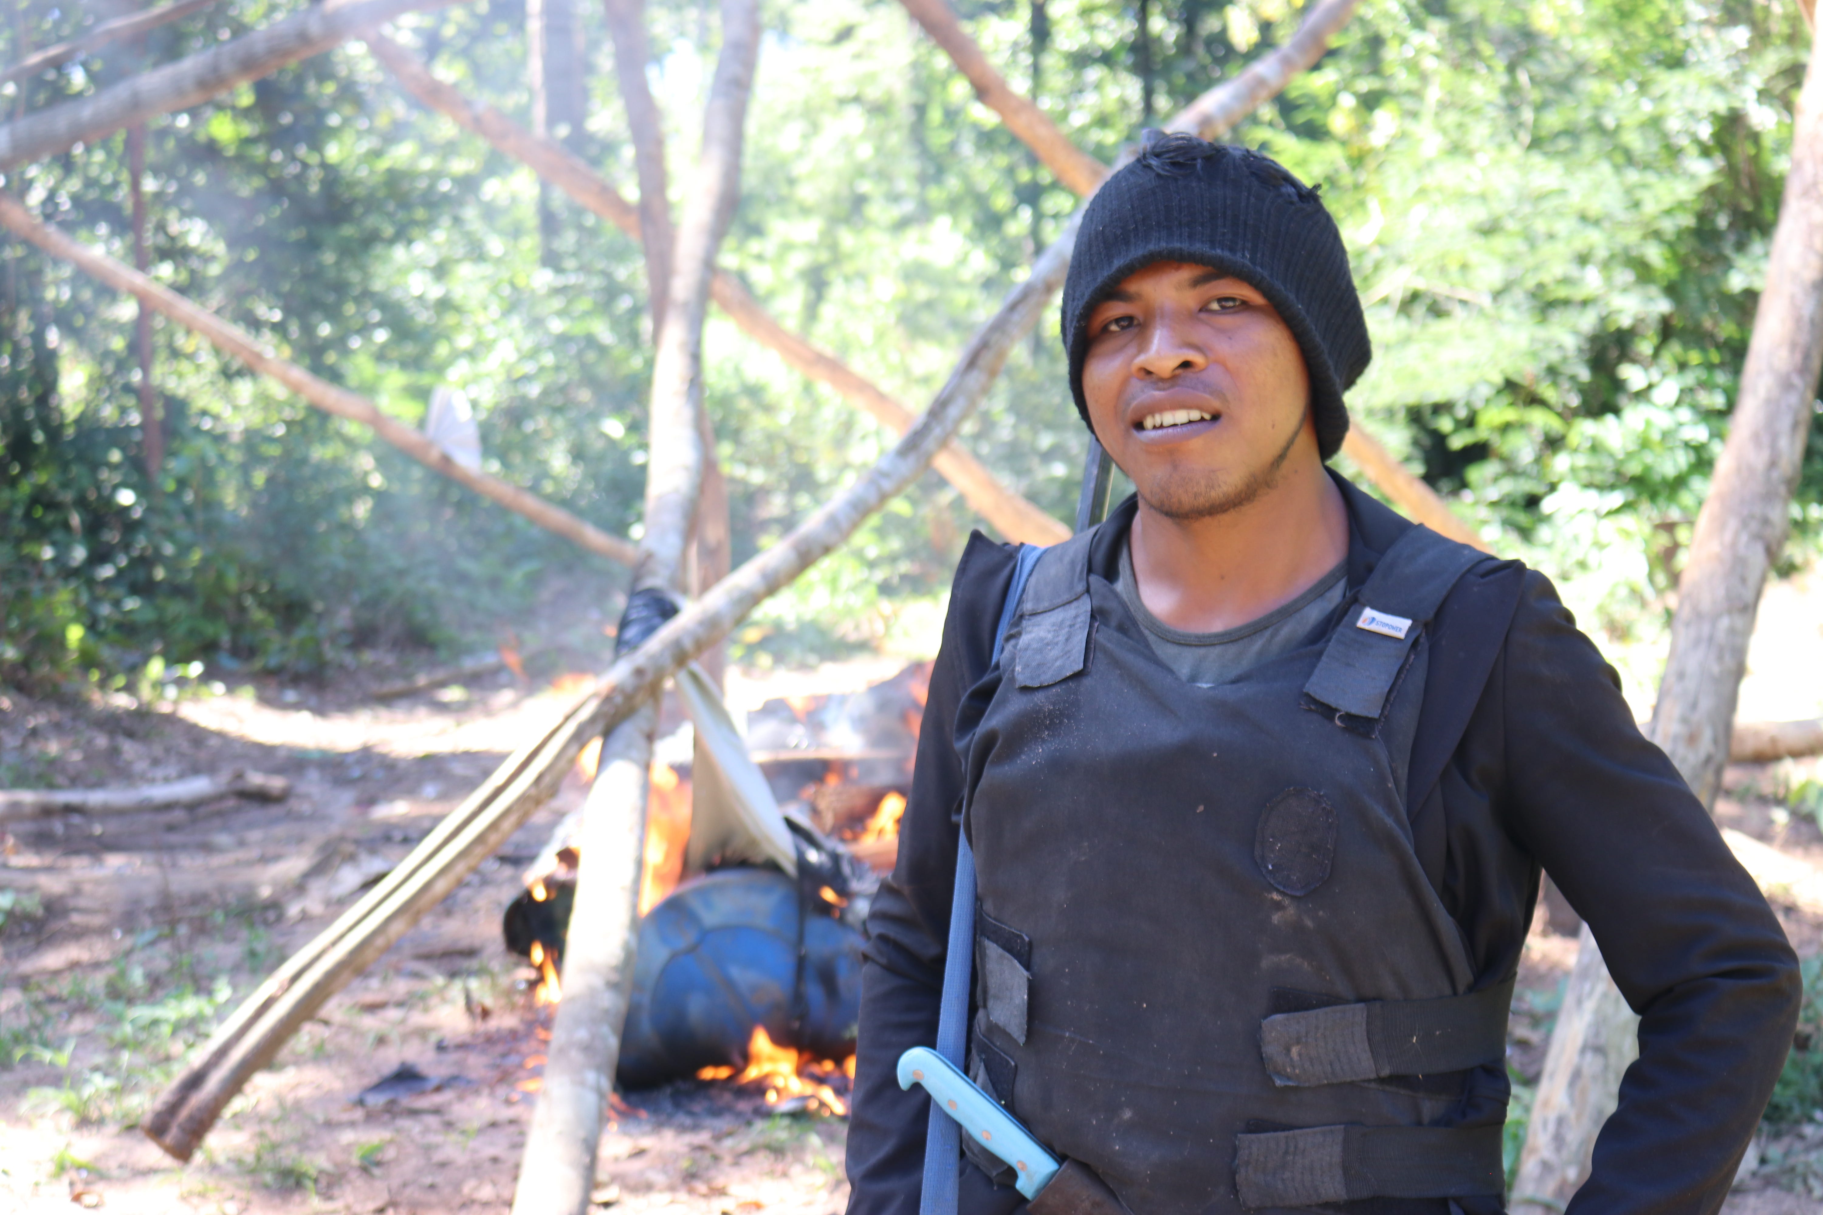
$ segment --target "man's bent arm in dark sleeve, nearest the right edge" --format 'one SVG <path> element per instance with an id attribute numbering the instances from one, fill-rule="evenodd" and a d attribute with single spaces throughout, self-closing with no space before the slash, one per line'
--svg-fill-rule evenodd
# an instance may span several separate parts
<path id="1" fill-rule="evenodd" d="M 1715 1211 L 1792 1044 L 1797 958 L 1540 574 L 1502 661 L 1508 823 L 1643 1016 L 1568 1215 Z"/>

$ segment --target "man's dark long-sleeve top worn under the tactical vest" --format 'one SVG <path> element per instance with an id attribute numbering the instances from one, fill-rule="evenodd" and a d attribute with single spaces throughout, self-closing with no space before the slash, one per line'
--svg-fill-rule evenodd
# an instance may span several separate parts
<path id="1" fill-rule="evenodd" d="M 1353 590 L 1402 525 L 1338 485 Z M 1130 505 L 1117 510 L 1090 554 L 1108 581 L 1130 517 Z M 921 1089 L 899 1089 L 893 1066 L 937 1036 L 964 780 L 952 727 L 988 670 L 1014 554 L 977 534 L 957 567 L 899 862 L 868 920 L 850 1215 L 919 1206 L 930 1106 Z M 1462 931 L 1475 987 L 1517 971 L 1542 865 L 1643 1018 L 1639 1060 L 1570 1215 L 1715 1211 L 1792 1042 L 1799 980 L 1785 933 L 1701 801 L 1633 725 L 1613 669 L 1550 579 L 1517 563 L 1477 567 L 1429 628 L 1411 831 Z"/>

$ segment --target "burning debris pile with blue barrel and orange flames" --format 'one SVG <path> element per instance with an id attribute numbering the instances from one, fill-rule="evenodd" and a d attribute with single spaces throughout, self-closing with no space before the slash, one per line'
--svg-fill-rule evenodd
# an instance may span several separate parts
<path id="1" fill-rule="evenodd" d="M 897 856 L 928 678 L 917 665 L 855 694 L 773 699 L 746 736 L 706 681 L 680 678 L 695 729 L 654 750 L 623 1087 L 696 1077 L 764 1086 L 780 1111 L 848 1111 L 859 929 Z M 561 998 L 576 860 L 554 840 L 505 911 L 540 1004 Z"/>

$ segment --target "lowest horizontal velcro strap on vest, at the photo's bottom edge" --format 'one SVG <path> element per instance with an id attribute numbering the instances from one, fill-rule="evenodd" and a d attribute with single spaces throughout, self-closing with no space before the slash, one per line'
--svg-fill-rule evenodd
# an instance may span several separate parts
<path id="1" fill-rule="evenodd" d="M 1500 1128 L 1313 1126 L 1234 1137 L 1241 1206 L 1468 1199 L 1506 1189 Z"/>

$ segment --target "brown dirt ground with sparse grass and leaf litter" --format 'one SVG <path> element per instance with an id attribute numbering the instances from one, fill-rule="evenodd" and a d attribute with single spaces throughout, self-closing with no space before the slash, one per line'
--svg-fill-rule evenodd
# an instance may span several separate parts
<path id="1" fill-rule="evenodd" d="M 549 1009 L 500 940 L 561 794 L 261 1071 L 188 1164 L 135 1128 L 177 1058 L 567 705 L 551 667 L 376 701 L 363 687 L 242 685 L 157 710 L 126 698 L 0 692 L 0 787 L 97 787 L 233 767 L 294 781 L 279 803 L 15 822 L 0 834 L 0 1211 L 505 1211 Z M 571 663 L 580 667 L 582 663 Z M 731 699 L 853 689 L 893 659 L 731 681 Z M 1719 818 L 1823 865 L 1823 834 L 1776 791 L 1805 774 L 1737 769 Z M 1807 956 L 1823 920 L 1781 907 Z M 1555 929 L 1555 931 L 1553 931 Z M 1515 1000 L 1511 1062 L 1537 1078 L 1575 960 L 1540 914 Z M 355 1097 L 401 1064 L 439 1080 Z M 684 1082 L 627 1095 L 598 1166 L 598 1210 L 824 1215 L 846 1204 L 846 1124 L 775 1115 L 758 1093 Z M 1823 1120 L 1756 1144 L 1730 1215 L 1823 1211 Z"/>

